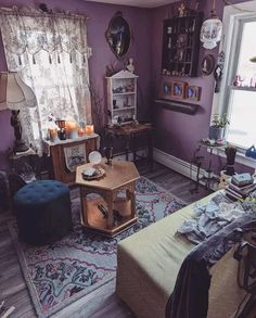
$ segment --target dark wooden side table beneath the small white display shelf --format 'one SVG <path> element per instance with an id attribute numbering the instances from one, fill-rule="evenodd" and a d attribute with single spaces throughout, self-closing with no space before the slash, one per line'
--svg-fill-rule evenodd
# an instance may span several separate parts
<path id="1" fill-rule="evenodd" d="M 105 135 L 111 139 L 112 144 L 115 138 L 125 140 L 126 161 L 129 160 L 129 152 L 133 154 L 133 162 L 140 158 L 138 155 L 137 142 L 140 136 L 146 137 L 148 158 L 153 164 L 153 131 L 154 128 L 151 124 L 127 124 L 120 127 L 105 128 Z"/>

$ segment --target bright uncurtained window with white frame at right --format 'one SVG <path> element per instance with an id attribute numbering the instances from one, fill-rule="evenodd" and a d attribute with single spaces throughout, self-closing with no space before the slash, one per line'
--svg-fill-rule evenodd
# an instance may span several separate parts
<path id="1" fill-rule="evenodd" d="M 213 113 L 228 113 L 226 139 L 245 150 L 256 144 L 256 1 L 226 7 L 223 26 L 225 73 Z"/>

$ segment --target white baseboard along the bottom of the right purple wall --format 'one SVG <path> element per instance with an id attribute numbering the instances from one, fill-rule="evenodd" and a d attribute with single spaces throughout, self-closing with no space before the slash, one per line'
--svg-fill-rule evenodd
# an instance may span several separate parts
<path id="1" fill-rule="evenodd" d="M 185 176 L 187 178 L 195 181 L 196 180 L 196 175 L 197 175 L 197 167 L 194 164 L 188 163 L 185 161 L 182 161 L 171 154 L 168 154 L 157 148 L 153 149 L 153 158 L 157 163 L 175 170 L 178 174 L 181 174 Z M 205 169 L 200 169 L 200 178 L 205 176 L 207 173 Z M 214 177 L 218 178 L 217 175 Z M 201 185 L 205 185 L 204 181 L 200 181 Z M 216 185 L 213 185 L 210 187 L 212 190 L 216 190 Z"/>

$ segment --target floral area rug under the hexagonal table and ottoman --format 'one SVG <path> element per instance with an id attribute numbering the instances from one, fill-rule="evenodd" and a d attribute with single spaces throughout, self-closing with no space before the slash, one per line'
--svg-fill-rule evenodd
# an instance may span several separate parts
<path id="1" fill-rule="evenodd" d="M 73 232 L 43 246 L 17 240 L 16 224 L 9 228 L 25 280 L 39 317 L 50 317 L 115 277 L 117 243 L 184 206 L 171 193 L 141 177 L 136 185 L 139 220 L 113 239 L 84 231 L 80 199 L 72 193 Z"/>

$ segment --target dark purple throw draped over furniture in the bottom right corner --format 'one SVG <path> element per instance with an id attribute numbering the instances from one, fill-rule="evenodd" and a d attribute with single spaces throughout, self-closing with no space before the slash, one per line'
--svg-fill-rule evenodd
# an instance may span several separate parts
<path id="1" fill-rule="evenodd" d="M 166 305 L 166 318 L 207 317 L 210 285 L 208 268 L 235 242 L 240 242 L 244 232 L 255 227 L 256 216 L 243 214 L 194 247 L 181 265 L 174 292 Z"/>

